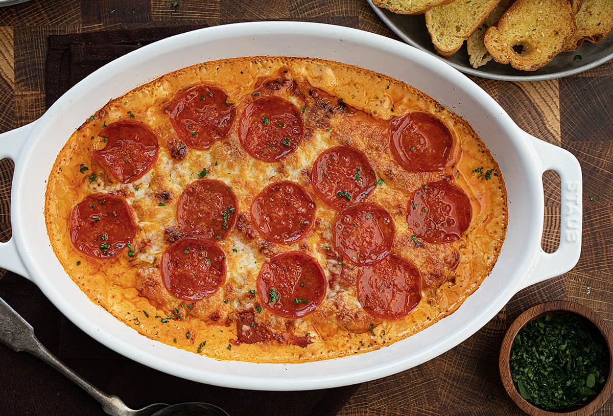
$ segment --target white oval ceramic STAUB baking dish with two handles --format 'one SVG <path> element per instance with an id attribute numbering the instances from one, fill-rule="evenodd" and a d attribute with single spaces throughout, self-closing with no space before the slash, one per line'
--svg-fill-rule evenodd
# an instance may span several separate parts
<path id="1" fill-rule="evenodd" d="M 506 181 L 509 227 L 500 258 L 481 287 L 452 315 L 380 350 L 303 364 L 218 361 L 151 341 L 89 301 L 51 250 L 45 185 L 70 134 L 109 99 L 181 67 L 253 55 L 309 56 L 402 80 L 462 115 L 482 137 Z M 200 29 L 135 50 L 86 77 L 29 125 L 0 135 L 0 157 L 15 161 L 13 237 L 0 244 L 0 266 L 28 277 L 97 341 L 132 360 L 197 382 L 258 390 L 308 390 L 389 376 L 440 355 L 485 325 L 520 289 L 573 268 L 581 251 L 581 168 L 571 153 L 520 129 L 465 75 L 387 37 L 318 23 L 256 22 Z M 541 249 L 542 174 L 562 179 L 562 238 Z M 61 198 L 58 195 L 57 198 Z"/>

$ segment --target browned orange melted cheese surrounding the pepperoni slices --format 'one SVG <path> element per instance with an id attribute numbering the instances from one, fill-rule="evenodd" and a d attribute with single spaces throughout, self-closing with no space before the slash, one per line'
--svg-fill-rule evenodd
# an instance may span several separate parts
<path id="1" fill-rule="evenodd" d="M 167 114 L 177 91 L 200 83 L 222 88 L 227 101 L 237 106 L 230 133 L 210 150 L 182 145 Z M 238 119 L 256 88 L 288 98 L 302 109 L 305 137 L 297 151 L 278 163 L 255 160 L 238 141 Z M 406 172 L 392 157 L 386 126 L 392 118 L 411 111 L 427 112 L 451 131 L 454 147 L 443 171 Z M 158 136 L 159 158 L 141 179 L 121 184 L 92 160 L 92 151 L 104 147 L 98 137 L 104 125 L 131 115 Z M 365 312 L 357 301 L 357 269 L 338 264 L 341 256 L 332 248 L 330 230 L 336 211 L 313 192 L 310 169 L 322 150 L 340 144 L 364 152 L 377 177 L 383 179 L 368 202 L 385 207 L 394 219 L 392 252 L 413 261 L 421 271 L 422 299 L 406 318 L 381 320 Z M 85 173 L 80 172 L 82 164 L 89 168 Z M 239 216 L 229 236 L 219 242 L 226 253 L 226 282 L 210 298 L 186 302 L 170 295 L 159 267 L 169 242 L 181 236 L 178 198 L 204 168 L 210 171 L 207 179 L 222 180 L 232 187 Z M 90 181 L 93 173 L 96 179 Z M 424 183 L 444 177 L 470 198 L 470 227 L 459 241 L 416 245 L 406 221 L 407 202 Z M 275 180 L 300 183 L 316 202 L 311 233 L 294 244 L 264 241 L 249 220 L 253 198 Z M 134 256 L 124 253 L 110 260 L 93 260 L 71 244 L 70 210 L 99 191 L 123 196 L 134 210 L 138 227 Z M 180 349 L 223 360 L 262 363 L 299 363 L 368 352 L 451 314 L 492 270 L 508 218 L 503 177 L 489 150 L 466 121 L 426 94 L 359 67 L 264 56 L 186 67 L 109 101 L 70 136 L 59 153 L 48 179 L 45 217 L 51 245 L 66 273 L 92 302 L 118 320 L 143 336 Z M 271 256 L 291 250 L 302 250 L 319 261 L 329 282 L 326 298 L 312 314 L 295 320 L 276 317 L 265 307 L 257 313 L 259 300 L 249 291 L 256 288 L 260 266 Z M 273 336 L 256 344 L 237 342 L 235 323 L 245 310 L 256 311 L 258 327 L 291 337 Z M 310 344 L 292 345 L 295 339 Z"/>

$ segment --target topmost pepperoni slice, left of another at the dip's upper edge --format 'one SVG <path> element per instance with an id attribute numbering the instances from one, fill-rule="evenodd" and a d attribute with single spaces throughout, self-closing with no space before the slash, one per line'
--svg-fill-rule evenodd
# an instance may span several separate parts
<path id="1" fill-rule="evenodd" d="M 170 123 L 189 147 L 207 150 L 226 136 L 236 115 L 223 90 L 197 85 L 183 91 L 171 104 Z"/>

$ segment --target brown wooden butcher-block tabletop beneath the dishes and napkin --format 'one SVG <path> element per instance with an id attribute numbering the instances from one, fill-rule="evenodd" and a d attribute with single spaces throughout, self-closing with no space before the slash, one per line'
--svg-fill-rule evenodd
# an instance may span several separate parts
<path id="1" fill-rule="evenodd" d="M 365 0 L 178 3 L 172 7 L 167 0 L 34 0 L 0 9 L 0 131 L 24 125 L 44 113 L 44 64 L 50 34 L 274 19 L 333 23 L 395 37 Z M 474 80 L 520 127 L 568 149 L 581 162 L 581 260 L 573 271 L 518 293 L 490 323 L 455 349 L 417 368 L 364 383 L 340 415 L 520 414 L 504 392 L 497 368 L 504 331 L 520 312 L 546 300 L 568 299 L 592 308 L 613 325 L 613 62 L 545 82 Z M 2 241 L 10 236 L 11 169 L 10 161 L 0 163 Z M 559 179 L 547 172 L 544 183 L 543 247 L 552 251 L 559 239 Z M 15 380 L 3 388 L 27 388 L 28 383 L 36 380 Z M 55 395 L 52 386 L 50 392 Z M 613 400 L 597 413 L 611 414 Z"/>

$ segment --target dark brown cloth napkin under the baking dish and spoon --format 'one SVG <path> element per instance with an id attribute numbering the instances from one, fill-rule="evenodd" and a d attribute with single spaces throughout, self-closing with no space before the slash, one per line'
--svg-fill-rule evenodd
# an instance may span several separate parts
<path id="1" fill-rule="evenodd" d="M 47 106 L 72 85 L 124 53 L 200 28 L 171 26 L 49 37 Z M 329 390 L 250 391 L 189 382 L 142 366 L 99 344 L 64 317 L 33 283 L 7 273 L 0 296 L 36 331 L 42 344 L 87 380 L 133 408 L 204 401 L 234 416 L 335 415 L 357 385 Z M 0 344 L 0 415 L 104 415 L 101 406 L 47 364 Z"/>

